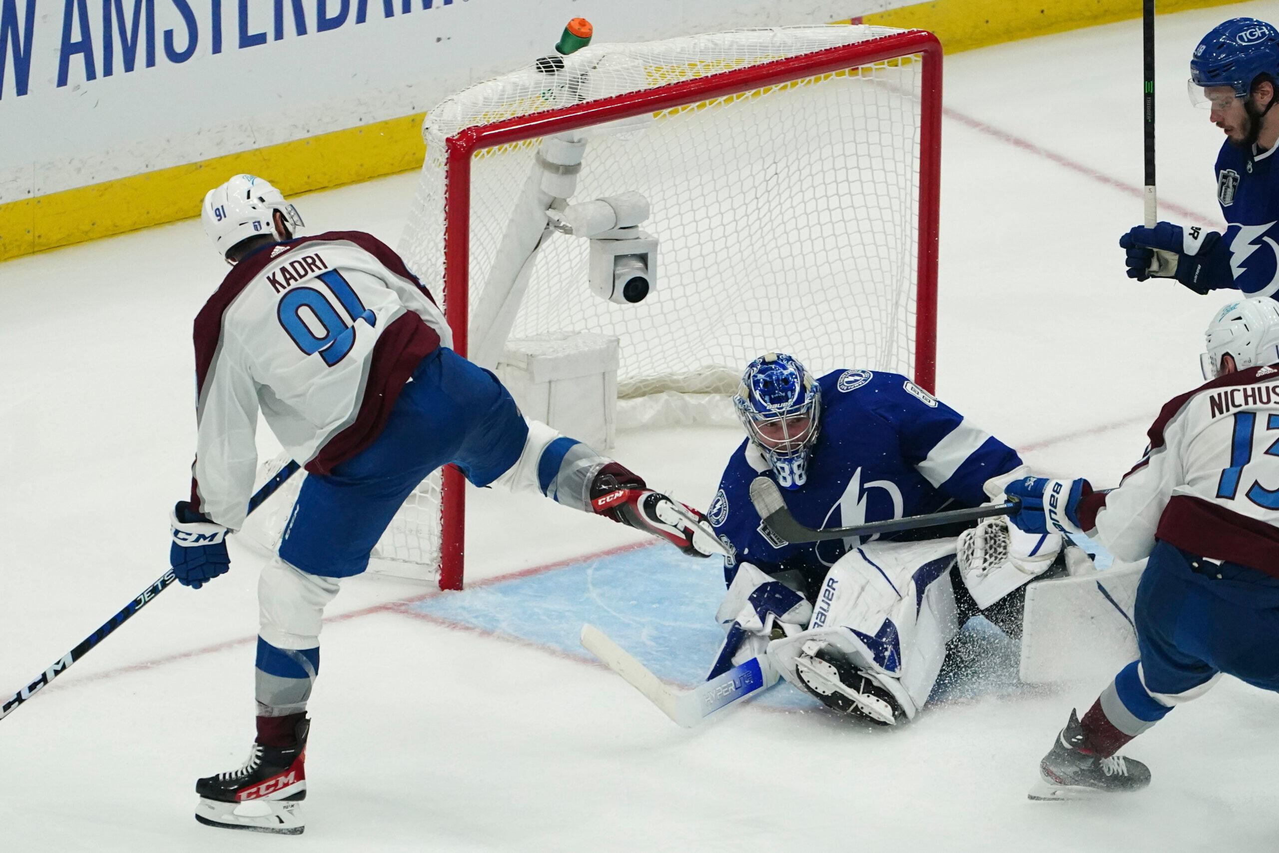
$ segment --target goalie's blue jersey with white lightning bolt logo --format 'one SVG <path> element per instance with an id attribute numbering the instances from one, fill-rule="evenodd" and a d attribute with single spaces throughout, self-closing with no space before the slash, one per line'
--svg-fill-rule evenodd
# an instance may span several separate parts
<path id="1" fill-rule="evenodd" d="M 982 483 L 1022 464 L 1016 450 L 904 376 L 845 370 L 817 382 L 821 431 L 807 482 L 783 490 L 801 524 L 848 527 L 977 506 L 989 500 Z M 798 570 L 810 584 L 820 583 L 826 569 L 861 540 L 779 541 L 751 504 L 751 481 L 760 474 L 773 477 L 769 463 L 743 440 L 724 469 L 709 513 L 720 540 L 732 546 L 725 579 L 732 582 L 738 563 L 751 563 L 770 574 Z M 885 538 L 946 535 L 940 531 Z"/>

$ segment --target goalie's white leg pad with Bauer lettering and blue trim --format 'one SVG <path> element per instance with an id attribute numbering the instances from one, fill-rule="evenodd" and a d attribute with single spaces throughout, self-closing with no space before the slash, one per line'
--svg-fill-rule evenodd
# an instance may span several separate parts
<path id="1" fill-rule="evenodd" d="M 958 632 L 950 567 L 955 540 L 876 542 L 830 568 L 808 629 L 769 643 L 767 656 L 803 689 L 796 659 L 822 641 L 874 674 L 913 717 L 932 692 L 946 642 Z"/>

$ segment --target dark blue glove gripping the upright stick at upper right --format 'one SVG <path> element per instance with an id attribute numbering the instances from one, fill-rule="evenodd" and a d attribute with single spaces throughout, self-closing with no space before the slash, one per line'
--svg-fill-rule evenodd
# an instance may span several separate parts
<path id="1" fill-rule="evenodd" d="M 1234 286 L 1230 252 L 1221 235 L 1198 225 L 1187 230 L 1172 223 L 1138 225 L 1119 238 L 1119 248 L 1127 251 L 1129 279 L 1177 279 L 1201 295 Z"/>

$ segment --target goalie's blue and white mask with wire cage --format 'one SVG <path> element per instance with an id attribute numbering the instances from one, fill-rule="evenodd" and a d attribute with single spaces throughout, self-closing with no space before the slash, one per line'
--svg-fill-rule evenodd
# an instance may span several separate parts
<path id="1" fill-rule="evenodd" d="M 733 405 L 778 485 L 804 485 L 821 418 L 821 389 L 803 364 L 781 353 L 756 358 L 742 376 Z"/>

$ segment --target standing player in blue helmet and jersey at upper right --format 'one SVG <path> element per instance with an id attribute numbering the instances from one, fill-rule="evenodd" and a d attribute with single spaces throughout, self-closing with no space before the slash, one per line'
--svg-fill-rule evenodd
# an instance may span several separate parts
<path id="1" fill-rule="evenodd" d="M 1234 288 L 1252 297 L 1279 294 L 1279 29 L 1256 18 L 1232 18 L 1195 49 L 1189 93 L 1210 107 L 1225 133 L 1216 157 L 1216 201 L 1224 234 L 1159 223 L 1133 228 L 1128 276 L 1177 279 L 1195 293 Z"/>

